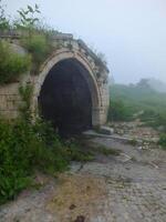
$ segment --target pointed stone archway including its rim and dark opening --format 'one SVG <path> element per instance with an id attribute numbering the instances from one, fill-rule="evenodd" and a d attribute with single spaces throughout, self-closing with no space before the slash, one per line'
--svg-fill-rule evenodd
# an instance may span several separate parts
<path id="1" fill-rule="evenodd" d="M 68 65 L 70 65 L 70 69 Z M 66 71 L 66 69 L 69 69 L 69 72 Z M 76 85 L 75 83 L 75 85 L 73 88 L 71 87 L 70 90 L 64 89 L 64 88 L 63 90 L 68 90 L 66 94 L 68 93 L 72 94 L 72 93 L 75 93 L 75 91 L 77 91 L 77 97 L 80 97 L 80 100 L 77 99 L 77 107 L 76 107 L 77 110 L 80 109 L 80 114 L 79 114 L 79 111 L 77 112 L 75 111 L 75 114 L 73 115 L 71 113 L 74 113 L 74 108 L 72 108 L 72 105 L 70 104 L 69 97 L 64 99 L 65 92 L 63 93 L 63 95 L 62 93 L 59 93 L 59 97 L 61 98 L 61 102 L 60 102 L 58 99 L 55 99 L 58 98 L 58 92 L 53 90 L 53 85 L 52 88 L 50 87 L 50 89 L 48 87 L 48 85 L 51 85 L 50 83 L 52 81 L 54 81 L 54 87 L 58 87 L 55 84 L 56 83 L 55 81 L 59 81 L 60 84 L 64 84 L 64 78 L 61 77 L 62 73 L 63 75 L 66 77 L 68 84 L 72 85 L 73 82 L 70 81 L 70 79 L 68 79 L 68 78 L 72 78 L 72 71 L 74 72 L 73 77 L 77 78 L 76 81 L 79 85 Z M 70 77 L 68 77 L 69 74 Z M 80 92 L 80 90 L 82 92 Z M 50 91 L 50 95 L 49 95 L 49 91 Z M 54 102 L 53 100 L 51 102 L 52 107 L 50 103 L 50 107 L 48 104 L 48 108 L 46 108 L 46 104 L 45 104 L 46 99 L 44 99 L 46 98 L 45 92 L 48 93 L 49 98 L 51 98 L 51 93 L 54 94 L 53 95 Z M 76 98 L 76 94 L 74 97 Z M 80 101 L 83 103 L 82 105 Z M 42 71 L 40 72 L 38 80 L 35 80 L 34 82 L 32 110 L 35 111 L 35 113 L 38 113 L 39 103 L 42 109 L 42 114 L 44 115 L 44 118 L 49 120 L 51 120 L 51 118 L 54 119 L 54 121 L 56 122 L 59 127 L 61 124 L 64 127 L 64 122 L 59 121 L 58 119 L 63 119 L 66 123 L 66 127 L 69 127 L 68 124 L 72 124 L 72 123 L 76 124 L 76 120 L 74 120 L 74 115 L 75 115 L 75 119 L 76 118 L 77 120 L 80 119 L 80 121 L 77 121 L 77 124 L 80 124 L 80 128 L 77 128 L 76 125 L 74 128 L 75 130 L 77 129 L 77 131 L 85 130 L 92 125 L 100 124 L 100 111 L 101 111 L 101 105 L 102 105 L 102 98 L 101 98 L 101 92 L 100 92 L 95 75 L 86 58 L 83 58 L 82 54 L 80 54 L 79 52 L 71 52 L 71 51 L 60 51 L 59 53 L 56 52 L 51 58 L 49 58 L 43 64 Z M 54 103 L 56 103 L 56 105 L 59 107 L 55 108 Z M 69 107 L 62 105 L 61 103 L 69 103 Z M 72 103 L 72 98 L 71 98 L 71 103 Z M 86 111 L 85 111 L 85 107 L 87 109 Z M 52 112 L 50 111 L 46 112 L 46 109 L 52 110 Z M 59 110 L 59 114 L 58 114 L 58 110 Z M 66 121 L 68 117 L 65 114 L 65 110 L 66 112 L 70 112 L 69 114 L 70 121 Z M 81 114 L 81 110 L 82 110 L 82 114 Z M 53 111 L 54 113 L 56 113 L 56 117 L 54 117 Z M 63 114 L 60 118 L 59 115 L 61 112 Z M 72 119 L 73 119 L 73 122 L 72 122 Z"/>

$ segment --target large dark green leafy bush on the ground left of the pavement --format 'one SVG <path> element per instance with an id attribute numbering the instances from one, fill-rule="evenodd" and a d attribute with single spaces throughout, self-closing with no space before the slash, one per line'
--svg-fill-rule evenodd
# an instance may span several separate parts
<path id="1" fill-rule="evenodd" d="M 66 153 L 59 137 L 43 122 L 0 121 L 0 203 L 28 186 L 35 169 L 46 173 L 66 169 Z"/>

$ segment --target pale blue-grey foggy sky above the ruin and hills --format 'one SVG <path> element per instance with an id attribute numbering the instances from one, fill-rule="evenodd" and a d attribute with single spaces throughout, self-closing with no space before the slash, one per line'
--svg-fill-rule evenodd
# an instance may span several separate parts
<path id="1" fill-rule="evenodd" d="M 105 54 L 116 82 L 166 81 L 166 0 L 3 0 L 8 13 L 37 2 L 44 21 Z"/>

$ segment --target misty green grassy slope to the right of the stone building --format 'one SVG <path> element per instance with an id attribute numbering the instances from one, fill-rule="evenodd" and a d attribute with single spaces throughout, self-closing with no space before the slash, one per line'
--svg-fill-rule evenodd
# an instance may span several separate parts
<path id="1" fill-rule="evenodd" d="M 141 84 L 115 84 L 110 89 L 108 121 L 128 121 L 139 118 L 145 125 L 164 127 L 166 131 L 166 93 Z M 135 113 L 142 112 L 137 117 Z"/>

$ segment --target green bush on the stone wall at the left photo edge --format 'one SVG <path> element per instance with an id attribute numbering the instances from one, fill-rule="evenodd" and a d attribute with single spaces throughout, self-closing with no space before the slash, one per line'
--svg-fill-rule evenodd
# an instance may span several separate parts
<path id="1" fill-rule="evenodd" d="M 15 81 L 31 67 L 30 56 L 13 52 L 7 41 L 0 41 L 0 83 Z"/>

